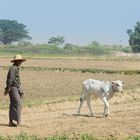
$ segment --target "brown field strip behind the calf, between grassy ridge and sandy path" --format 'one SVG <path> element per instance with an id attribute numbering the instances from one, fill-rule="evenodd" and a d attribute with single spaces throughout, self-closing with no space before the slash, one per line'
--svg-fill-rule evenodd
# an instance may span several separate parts
<path id="1" fill-rule="evenodd" d="M 117 79 L 123 80 L 125 82 L 124 91 L 126 92 L 135 92 L 139 89 L 140 85 L 140 75 L 91 74 L 59 71 L 20 71 L 20 74 L 22 88 L 25 92 L 25 102 L 41 102 L 44 99 L 62 97 L 69 99 L 79 98 L 81 95 L 82 82 L 88 78 L 109 81 Z M 2 93 L 5 88 L 7 70 L 1 70 L 0 75 L 0 92 Z M 0 96 L 0 98 L 2 97 Z"/>

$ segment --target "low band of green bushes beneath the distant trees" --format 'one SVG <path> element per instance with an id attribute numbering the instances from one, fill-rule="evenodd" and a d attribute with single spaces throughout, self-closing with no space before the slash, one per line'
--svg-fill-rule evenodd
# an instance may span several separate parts
<path id="1" fill-rule="evenodd" d="M 0 55 L 14 55 L 17 53 L 24 55 L 39 56 L 101 56 L 113 55 L 116 52 L 131 52 L 130 47 L 122 46 L 100 46 L 89 44 L 87 46 L 75 46 L 66 44 L 64 47 L 58 45 L 0 45 Z"/>

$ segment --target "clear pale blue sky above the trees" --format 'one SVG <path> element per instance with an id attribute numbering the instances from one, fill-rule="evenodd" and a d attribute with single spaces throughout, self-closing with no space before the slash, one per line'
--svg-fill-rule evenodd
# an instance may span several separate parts
<path id="1" fill-rule="evenodd" d="M 140 21 L 140 0 L 0 0 L 0 19 L 26 25 L 34 44 L 63 36 L 75 45 L 128 46 L 126 31 Z"/>

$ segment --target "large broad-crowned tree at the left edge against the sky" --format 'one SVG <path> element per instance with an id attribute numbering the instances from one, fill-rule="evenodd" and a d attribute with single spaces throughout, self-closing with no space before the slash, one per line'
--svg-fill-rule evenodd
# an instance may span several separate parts
<path id="1" fill-rule="evenodd" d="M 23 39 L 30 40 L 26 26 L 16 20 L 0 20 L 0 42 L 11 44 Z"/>

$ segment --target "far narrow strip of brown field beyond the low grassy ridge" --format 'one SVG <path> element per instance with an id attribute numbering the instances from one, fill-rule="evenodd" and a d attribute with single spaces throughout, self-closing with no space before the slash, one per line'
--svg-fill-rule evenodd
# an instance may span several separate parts
<path id="1" fill-rule="evenodd" d="M 0 66 L 10 66 L 12 58 L 1 58 Z M 107 60 L 107 59 L 27 59 L 24 67 L 51 67 L 51 68 L 99 68 L 110 70 L 139 70 L 138 60 Z"/>

